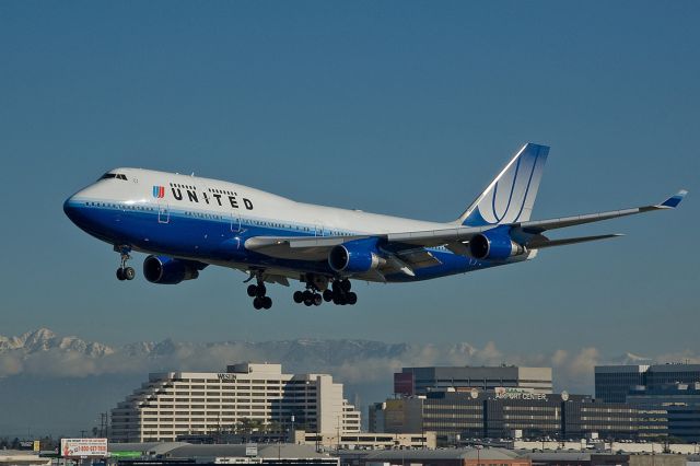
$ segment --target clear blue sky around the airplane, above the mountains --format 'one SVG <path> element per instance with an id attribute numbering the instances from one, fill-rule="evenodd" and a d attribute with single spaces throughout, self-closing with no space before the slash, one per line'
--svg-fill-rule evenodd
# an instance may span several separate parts
<path id="1" fill-rule="evenodd" d="M 1 2 L 0 335 L 697 352 L 699 14 L 693 1 Z M 267 313 L 236 271 L 118 282 L 117 255 L 61 209 L 126 165 L 447 221 L 527 141 L 551 145 L 534 218 L 690 195 L 563 233 L 620 240 L 358 284 L 352 307 L 300 307 L 280 287 Z"/>

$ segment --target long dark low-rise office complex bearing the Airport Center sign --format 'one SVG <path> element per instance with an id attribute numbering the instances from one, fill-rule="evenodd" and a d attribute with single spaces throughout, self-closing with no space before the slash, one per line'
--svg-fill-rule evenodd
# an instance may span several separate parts
<path id="1" fill-rule="evenodd" d="M 637 410 L 626 404 L 597 403 L 590 396 L 542 394 L 534 389 L 497 387 L 470 392 L 431 391 L 425 396 L 387 399 L 372 405 L 372 428 L 384 432 L 434 431 L 441 444 L 467 438 L 633 439 L 640 427 Z"/>

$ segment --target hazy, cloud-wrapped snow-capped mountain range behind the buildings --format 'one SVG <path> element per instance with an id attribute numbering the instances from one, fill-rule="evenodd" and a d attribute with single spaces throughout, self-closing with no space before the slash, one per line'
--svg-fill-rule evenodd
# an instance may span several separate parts
<path id="1" fill-rule="evenodd" d="M 140 341 L 112 347 L 39 328 L 0 336 L 0 435 L 77 434 L 97 423 L 98 412 L 115 407 L 149 372 L 221 372 L 241 361 L 280 362 L 285 372 L 330 373 L 346 384 L 346 396 L 363 412 L 369 403 L 392 393 L 393 373 L 410 365 L 520 364 L 553 368 L 556 389 L 593 393 L 599 363 L 689 360 L 691 352 L 645 358 L 625 353 L 604 358 L 595 348 L 571 353 L 504 354 L 493 342 L 476 348 L 454 345 L 385 343 L 362 339 L 180 342 Z"/>

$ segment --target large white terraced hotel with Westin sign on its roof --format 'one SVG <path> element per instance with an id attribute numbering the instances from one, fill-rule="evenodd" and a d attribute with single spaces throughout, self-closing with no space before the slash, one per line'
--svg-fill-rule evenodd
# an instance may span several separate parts
<path id="1" fill-rule="evenodd" d="M 292 424 L 293 416 L 293 424 Z M 281 364 L 242 363 L 226 372 L 166 372 L 112 410 L 113 442 L 174 441 L 177 435 L 230 431 L 243 419 L 284 430 L 360 431 L 360 411 L 327 374 L 283 374 Z"/>

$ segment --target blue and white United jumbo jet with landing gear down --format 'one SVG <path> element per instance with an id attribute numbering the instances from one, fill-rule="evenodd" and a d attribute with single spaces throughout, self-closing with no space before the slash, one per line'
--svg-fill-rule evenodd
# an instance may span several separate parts
<path id="1" fill-rule="evenodd" d="M 549 230 L 674 209 L 680 190 L 658 205 L 551 220 L 530 220 L 549 148 L 525 144 L 456 220 L 425 222 L 295 202 L 218 179 L 116 168 L 66 200 L 85 232 L 120 254 L 119 280 L 132 280 L 132 251 L 147 253 L 143 275 L 175 284 L 207 266 L 249 275 L 256 310 L 270 308 L 266 283 L 304 291 L 294 301 L 354 304 L 350 280 L 407 282 L 520 263 L 539 249 L 620 236 L 550 240 Z"/>

